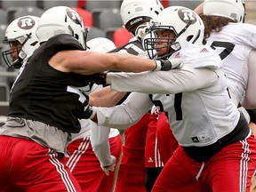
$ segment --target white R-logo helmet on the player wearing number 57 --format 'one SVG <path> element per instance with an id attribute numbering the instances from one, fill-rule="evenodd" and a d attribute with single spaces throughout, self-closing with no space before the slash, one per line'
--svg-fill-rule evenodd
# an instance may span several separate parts
<path id="1" fill-rule="evenodd" d="M 158 30 L 172 30 L 175 34 L 174 38 L 151 36 L 144 40 L 145 50 L 152 59 L 156 52 L 156 44 L 168 43 L 168 52 L 161 58 L 168 59 L 173 52 L 180 50 L 185 44 L 203 44 L 204 39 L 204 22 L 196 14 L 196 12 L 183 6 L 170 6 L 160 12 L 153 22 L 153 26 L 149 28 L 149 33 L 153 34 Z M 164 48 L 162 47 L 162 48 Z M 159 47 L 158 47 L 159 48 Z"/>

